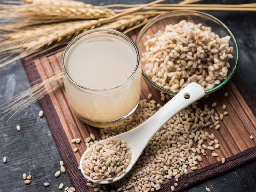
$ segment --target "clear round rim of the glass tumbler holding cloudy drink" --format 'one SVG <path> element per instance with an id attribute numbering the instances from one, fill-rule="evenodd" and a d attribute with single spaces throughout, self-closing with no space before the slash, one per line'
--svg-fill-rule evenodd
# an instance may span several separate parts
<path id="1" fill-rule="evenodd" d="M 67 69 L 66 69 L 66 66 L 65 66 L 66 54 L 67 54 L 69 48 L 72 47 L 73 43 L 75 43 L 80 37 L 85 36 L 85 35 L 88 35 L 88 34 L 90 34 L 90 33 L 94 33 L 94 32 L 104 32 L 104 31 L 105 31 L 105 32 L 112 32 L 112 33 L 115 33 L 115 34 L 117 34 L 117 35 L 123 36 L 126 40 L 128 40 L 128 41 L 132 44 L 132 46 L 133 46 L 133 48 L 134 48 L 134 50 L 135 50 L 135 52 L 136 52 L 136 56 L 137 56 L 137 63 L 136 63 L 136 66 L 135 66 L 134 71 L 132 72 L 132 74 L 125 80 L 125 82 L 122 83 L 122 84 L 120 84 L 120 85 L 118 85 L 118 86 L 116 86 L 116 87 L 111 87 L 111 88 L 107 88 L 107 89 L 92 89 L 92 88 L 84 87 L 83 85 L 80 85 L 80 84 L 76 83 L 76 82 L 71 78 L 71 76 L 68 74 Z M 64 71 L 65 75 L 68 77 L 68 80 L 70 80 L 71 83 L 75 84 L 76 86 L 78 86 L 78 87 L 80 87 L 80 88 L 82 88 L 82 89 L 90 90 L 90 91 L 98 91 L 98 92 L 100 92 L 100 91 L 110 91 L 110 90 L 114 90 L 114 89 L 116 89 L 116 88 L 118 88 L 118 87 L 121 87 L 121 86 L 127 84 L 127 82 L 128 82 L 129 80 L 131 80 L 132 77 L 134 76 L 135 72 L 137 71 L 137 69 L 138 69 L 138 67 L 139 67 L 139 64 L 140 64 L 140 54 L 139 54 L 139 50 L 138 50 L 136 44 L 132 41 L 132 39 L 131 39 L 130 37 L 128 37 L 127 35 L 125 35 L 124 33 L 120 32 L 120 31 L 117 31 L 117 30 L 114 30 L 114 29 L 109 29 L 109 28 L 90 29 L 90 30 L 88 30 L 88 31 L 85 31 L 85 32 L 83 32 L 83 33 L 80 33 L 79 35 L 75 36 L 75 37 L 68 43 L 68 45 L 66 46 L 66 48 L 65 48 L 65 50 L 64 50 L 64 52 L 63 52 L 63 56 L 62 56 L 62 68 L 63 68 L 63 71 Z"/>

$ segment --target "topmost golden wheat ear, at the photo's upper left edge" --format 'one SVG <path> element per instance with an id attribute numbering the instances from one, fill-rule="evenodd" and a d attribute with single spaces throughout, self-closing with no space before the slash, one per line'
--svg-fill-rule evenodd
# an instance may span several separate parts
<path id="1" fill-rule="evenodd" d="M 0 5 L 0 18 L 16 20 L 28 18 L 32 24 L 42 22 L 55 22 L 65 20 L 88 20 L 110 17 L 114 15 L 111 9 L 103 9 L 91 6 L 64 6 L 54 4 L 23 4 Z"/>

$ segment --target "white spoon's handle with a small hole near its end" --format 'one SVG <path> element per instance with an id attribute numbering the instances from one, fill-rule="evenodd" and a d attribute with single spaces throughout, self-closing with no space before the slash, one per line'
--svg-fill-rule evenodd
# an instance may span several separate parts
<path id="1" fill-rule="evenodd" d="M 136 128 L 140 132 L 138 134 L 143 134 L 144 138 L 149 141 L 172 116 L 202 98 L 204 94 L 205 92 L 201 85 L 195 82 L 188 84 L 153 116 L 140 124 Z M 185 98 L 185 95 L 189 95 L 189 98 Z"/>

